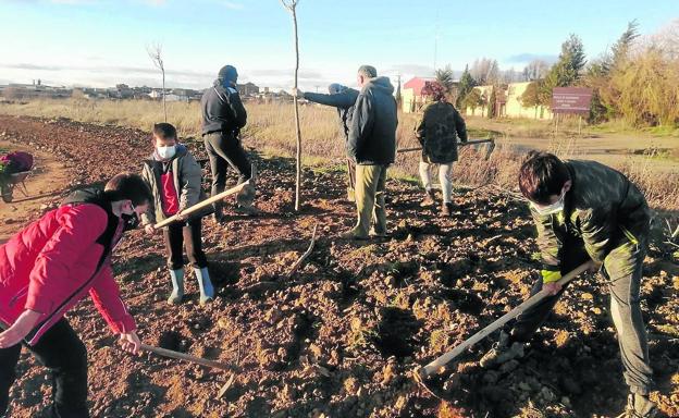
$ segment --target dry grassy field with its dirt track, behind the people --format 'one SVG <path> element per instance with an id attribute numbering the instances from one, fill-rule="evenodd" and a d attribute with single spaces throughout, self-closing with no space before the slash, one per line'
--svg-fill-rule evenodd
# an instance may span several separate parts
<path id="1" fill-rule="evenodd" d="M 295 150 L 294 111 L 287 103 L 248 102 L 248 125 L 244 131 L 247 146 L 268 156 L 292 157 Z M 0 114 L 39 116 L 51 120 L 66 118 L 94 124 L 133 127 L 148 132 L 153 123 L 162 121 L 158 102 L 92 101 L 86 99 L 35 100 L 0 102 Z M 399 114 L 397 140 L 400 148 L 419 144 L 412 135 L 417 115 Z M 200 140 L 199 103 L 168 103 L 168 120 L 187 142 Z M 344 142 L 340 137 L 336 113 L 320 106 L 304 106 L 300 111 L 306 164 L 335 169 L 345 167 Z M 554 137 L 548 122 L 533 120 L 493 120 L 468 118 L 471 138 L 494 136 L 498 149 L 489 161 L 462 151 L 456 164 L 454 179 L 464 185 L 495 184 L 516 189 L 516 173 L 528 149 L 555 152 L 564 158 L 594 159 L 609 164 L 633 179 L 644 188 L 650 202 L 657 209 L 679 207 L 679 133 L 668 131 L 631 131 L 613 124 L 587 127 L 576 135 L 577 123 L 561 123 L 560 135 Z M 483 152 L 483 150 L 480 150 Z M 470 157 L 465 157 L 465 155 Z M 474 157 L 471 157 L 474 155 Z M 399 155 L 392 176 L 415 181 L 418 179 L 418 152 Z"/>

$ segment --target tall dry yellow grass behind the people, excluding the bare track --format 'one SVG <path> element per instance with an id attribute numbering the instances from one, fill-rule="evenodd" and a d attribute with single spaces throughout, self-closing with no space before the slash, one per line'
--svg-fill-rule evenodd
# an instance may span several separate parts
<path id="1" fill-rule="evenodd" d="M 244 131 L 244 143 L 270 155 L 293 157 L 295 150 L 294 111 L 288 103 L 246 103 L 248 125 Z M 0 113 L 41 118 L 69 118 L 89 123 L 110 123 L 133 126 L 149 131 L 153 123 L 162 120 L 162 106 L 144 100 L 112 101 L 85 99 L 35 100 L 26 103 L 2 103 Z M 197 102 L 168 103 L 169 122 L 173 123 L 182 137 L 200 137 L 200 104 Z M 340 135 L 337 114 L 334 109 L 321 106 L 304 106 L 300 109 L 305 163 L 343 167 L 345 161 L 344 138 Z M 400 148 L 419 144 L 412 135 L 416 114 L 399 114 L 397 131 Z M 541 135 L 550 124 L 541 121 L 491 121 L 469 118 L 470 137 L 486 136 L 492 131 L 510 135 Z M 551 140 L 548 149 L 560 157 L 587 158 L 576 149 L 575 143 Z M 516 175 L 522 155 L 508 147 L 501 147 L 484 160 L 484 150 L 465 148 L 460 161 L 455 165 L 454 179 L 458 184 L 494 184 L 507 189 L 516 189 Z M 392 175 L 418 179 L 419 152 L 399 155 Z M 652 156 L 642 162 L 621 159 L 614 164 L 629 175 L 645 192 L 651 205 L 658 209 L 676 210 L 679 207 L 679 175 L 654 173 Z"/>

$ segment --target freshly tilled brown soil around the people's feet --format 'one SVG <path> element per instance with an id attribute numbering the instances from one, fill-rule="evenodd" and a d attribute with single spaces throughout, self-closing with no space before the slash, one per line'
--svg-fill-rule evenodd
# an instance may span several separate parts
<path id="1" fill-rule="evenodd" d="M 65 164 L 63 192 L 138 171 L 149 152 L 141 132 L 65 120 L 0 116 L 0 133 Z M 200 144 L 189 147 L 205 157 Z M 355 219 L 342 173 L 305 170 L 305 205 L 294 213 L 292 161 L 255 161 L 262 214 L 232 213 L 223 226 L 205 221 L 215 303 L 198 306 L 192 273 L 187 303 L 165 304 L 160 236 L 135 231 L 114 259 L 145 342 L 233 365 L 234 372 L 128 356 L 85 302 L 69 319 L 89 351 L 92 416 L 612 417 L 624 409 L 608 296 L 591 274 L 565 294 L 520 361 L 481 370 L 477 361 L 492 344 L 484 341 L 434 382 L 447 402 L 410 378 L 528 294 L 539 265 L 524 205 L 490 188 L 457 189 L 457 210 L 442 219 L 419 207 L 416 186 L 390 181 L 392 237 L 361 245 L 335 237 Z M 11 226 L 37 217 L 17 217 Z M 285 281 L 316 223 L 313 254 Z M 667 416 L 679 416 L 677 266 L 652 255 L 645 275 L 642 307 L 659 384 L 653 397 Z M 24 351 L 17 371 L 12 416 L 36 416 L 49 399 L 46 370 Z"/>

